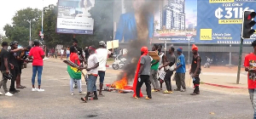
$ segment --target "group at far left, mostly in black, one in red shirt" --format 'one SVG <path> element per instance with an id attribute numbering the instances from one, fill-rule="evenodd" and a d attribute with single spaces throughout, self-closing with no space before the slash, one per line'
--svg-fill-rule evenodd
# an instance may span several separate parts
<path id="1" fill-rule="evenodd" d="M 19 93 L 20 90 L 16 88 L 26 88 L 20 84 L 20 76 L 22 71 L 22 65 L 25 62 L 29 62 L 32 59 L 32 91 L 42 92 L 41 88 L 41 76 L 43 71 L 43 59 L 44 50 L 40 47 L 40 42 L 35 40 L 33 47 L 18 48 L 18 42 L 14 41 L 8 44 L 8 42 L 2 42 L 2 49 L 0 53 L 0 71 L 3 74 L 3 79 L 0 82 L 0 88 L 3 87 L 4 95 L 13 96 L 15 93 Z M 8 47 L 11 47 L 8 49 Z M 26 52 L 29 52 L 26 55 Z M 35 77 L 38 74 L 38 88 L 35 88 Z M 7 88 L 7 82 L 11 80 L 10 88 Z M 15 88 L 16 82 L 16 88 Z M 0 95 L 3 95 L 0 92 Z"/>

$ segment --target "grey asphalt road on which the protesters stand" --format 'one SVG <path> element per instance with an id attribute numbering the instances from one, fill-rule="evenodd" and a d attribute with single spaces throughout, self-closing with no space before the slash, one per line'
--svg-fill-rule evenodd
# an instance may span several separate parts
<path id="1" fill-rule="evenodd" d="M 105 97 L 83 103 L 75 89 L 69 94 L 67 65 L 44 62 L 42 88 L 45 92 L 31 91 L 32 66 L 23 70 L 19 94 L 13 97 L 0 96 L 1 119 L 50 119 L 50 118 L 95 118 L 95 119 L 246 119 L 253 118 L 253 107 L 247 95 L 221 94 L 201 89 L 201 94 L 190 96 L 187 92 L 173 94 L 153 93 L 153 99 L 133 99 L 132 93 L 103 92 Z M 117 73 L 108 71 L 106 82 L 113 82 Z M 84 82 L 83 82 L 84 83 Z M 173 86 L 175 88 L 175 86 Z M 84 92 L 86 86 L 83 85 Z M 3 89 L 0 90 L 3 93 Z M 143 94 L 145 86 L 143 86 Z"/>

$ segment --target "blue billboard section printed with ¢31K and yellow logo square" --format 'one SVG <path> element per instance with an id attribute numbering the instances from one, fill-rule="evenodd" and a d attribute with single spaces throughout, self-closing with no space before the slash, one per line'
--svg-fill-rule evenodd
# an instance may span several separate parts
<path id="1" fill-rule="evenodd" d="M 256 10 L 255 0 L 198 0 L 198 26 L 195 42 L 237 44 L 241 41 L 244 10 Z M 255 27 L 254 27 L 255 29 Z M 256 40 L 256 34 L 244 43 Z"/>

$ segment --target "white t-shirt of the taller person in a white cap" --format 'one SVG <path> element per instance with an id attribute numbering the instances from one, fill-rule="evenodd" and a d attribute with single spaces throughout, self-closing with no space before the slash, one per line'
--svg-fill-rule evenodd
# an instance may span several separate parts
<path id="1" fill-rule="evenodd" d="M 99 59 L 99 64 L 100 64 L 98 67 L 98 71 L 106 71 L 108 49 L 98 48 L 96 49 L 96 55 L 97 55 L 97 58 Z"/>

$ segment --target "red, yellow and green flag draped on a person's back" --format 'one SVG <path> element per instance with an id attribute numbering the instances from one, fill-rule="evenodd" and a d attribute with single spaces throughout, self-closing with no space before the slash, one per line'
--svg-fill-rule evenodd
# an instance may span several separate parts
<path id="1" fill-rule="evenodd" d="M 68 58 L 72 62 L 74 62 L 75 59 L 79 59 L 78 54 L 70 54 L 70 57 Z M 80 65 L 80 61 L 78 60 L 78 63 Z M 70 65 L 67 65 L 67 72 L 69 76 L 73 79 L 80 80 L 82 77 L 82 72 L 78 70 L 76 67 L 72 67 Z"/>

